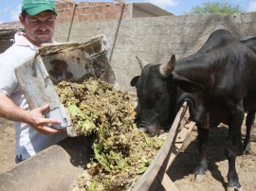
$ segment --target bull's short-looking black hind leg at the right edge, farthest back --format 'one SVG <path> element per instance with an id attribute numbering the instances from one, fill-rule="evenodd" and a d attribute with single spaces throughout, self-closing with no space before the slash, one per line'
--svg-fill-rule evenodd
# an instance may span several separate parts
<path id="1" fill-rule="evenodd" d="M 247 122 L 246 122 L 246 126 L 247 126 L 247 133 L 246 133 L 246 138 L 244 140 L 244 146 L 243 146 L 243 152 L 245 153 L 251 153 L 251 148 L 250 148 L 250 130 L 251 127 L 253 125 L 255 119 L 255 112 L 248 112 L 247 113 Z"/>

